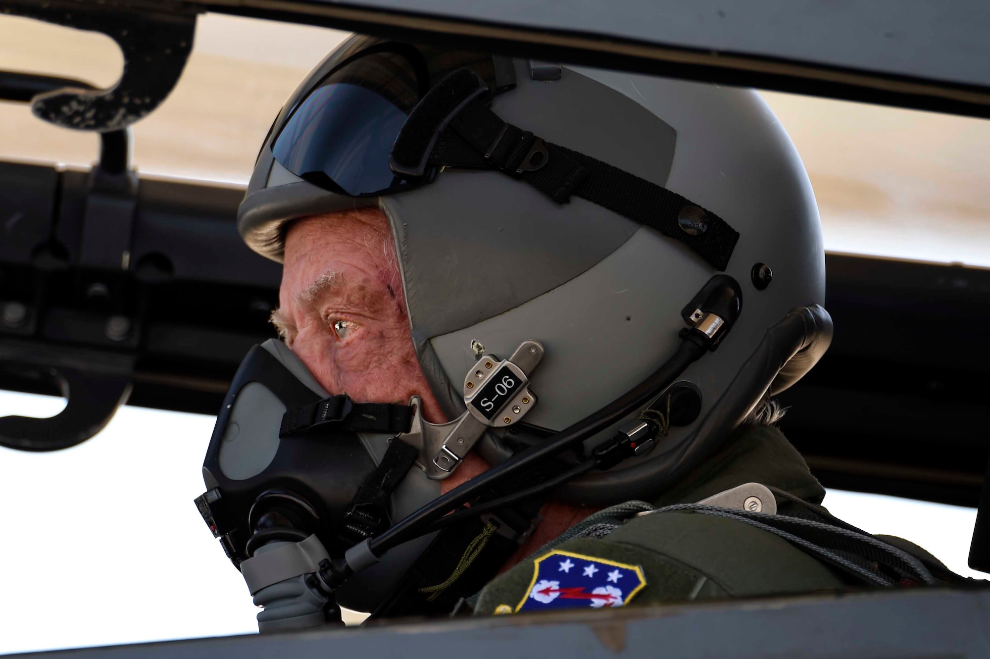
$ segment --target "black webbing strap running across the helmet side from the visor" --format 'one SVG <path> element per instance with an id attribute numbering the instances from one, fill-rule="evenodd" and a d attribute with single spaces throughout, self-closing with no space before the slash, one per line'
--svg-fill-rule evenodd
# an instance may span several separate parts
<path id="1" fill-rule="evenodd" d="M 545 155 L 536 151 L 545 149 Z M 503 122 L 474 100 L 450 121 L 434 147 L 433 164 L 490 168 L 512 174 L 558 204 L 573 196 L 607 208 L 667 237 L 682 241 L 718 270 L 725 270 L 740 234 L 715 213 L 687 198 L 591 156 L 544 142 Z M 697 219 L 684 230 L 686 208 Z"/>

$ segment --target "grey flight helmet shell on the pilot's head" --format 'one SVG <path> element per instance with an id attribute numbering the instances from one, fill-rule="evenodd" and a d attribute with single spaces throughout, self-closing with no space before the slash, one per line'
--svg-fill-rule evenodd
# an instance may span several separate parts
<path id="1" fill-rule="evenodd" d="M 309 81 L 325 77 L 353 44 Z M 596 506 L 648 499 L 828 347 L 814 193 L 793 143 L 751 90 L 583 67 L 538 80 L 545 76 L 532 76 L 525 60 L 513 65 L 516 88 L 492 104 L 503 120 L 679 193 L 740 233 L 725 274 L 742 287 L 742 314 L 718 350 L 679 378 L 700 393 L 697 420 L 670 427 L 652 452 L 555 495 Z M 549 430 L 578 422 L 669 358 L 684 327 L 681 309 L 718 274 L 678 240 L 581 198 L 557 204 L 499 171 L 447 167 L 409 192 L 348 197 L 286 170 L 272 156 L 273 139 L 262 145 L 241 205 L 241 235 L 280 260 L 291 220 L 379 207 L 395 239 L 420 363 L 450 419 L 465 409 L 460 386 L 476 359 L 472 340 L 505 357 L 537 339 L 546 352 L 526 422 Z M 753 274 L 759 264 L 772 270 L 768 285 Z M 501 433 L 477 444 L 491 463 L 511 455 Z"/>

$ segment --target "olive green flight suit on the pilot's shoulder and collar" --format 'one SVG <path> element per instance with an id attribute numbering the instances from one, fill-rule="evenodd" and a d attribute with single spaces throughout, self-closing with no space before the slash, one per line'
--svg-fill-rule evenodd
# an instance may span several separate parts
<path id="1" fill-rule="evenodd" d="M 749 426 L 651 503 L 656 507 L 696 503 L 750 482 L 779 488 L 812 504 L 821 504 L 825 497 L 825 489 L 780 430 Z M 778 513 L 796 512 L 796 504 L 779 499 Z M 585 558 L 603 570 L 620 566 L 629 577 L 627 584 L 637 579 L 629 570 L 640 568 L 645 585 L 633 597 L 628 595 L 631 591 L 624 596 L 631 606 L 828 592 L 850 584 L 837 570 L 777 535 L 738 520 L 691 512 L 644 517 L 631 512 L 625 523 L 604 537 L 572 537 L 552 551 L 566 552 L 554 557 L 564 556 L 568 563 L 567 557 L 573 555 L 574 561 Z M 475 614 L 518 611 L 532 597 L 538 561 L 546 555 L 546 548 L 537 551 L 489 582 L 477 598 Z"/>

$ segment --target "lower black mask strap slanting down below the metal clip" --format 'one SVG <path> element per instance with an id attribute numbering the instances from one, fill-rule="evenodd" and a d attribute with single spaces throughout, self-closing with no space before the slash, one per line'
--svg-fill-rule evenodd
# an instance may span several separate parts
<path id="1" fill-rule="evenodd" d="M 385 455 L 375 470 L 357 489 L 339 534 L 349 542 L 360 542 L 385 528 L 388 518 L 388 500 L 392 490 L 406 477 L 420 452 L 398 437 L 388 444 Z"/>

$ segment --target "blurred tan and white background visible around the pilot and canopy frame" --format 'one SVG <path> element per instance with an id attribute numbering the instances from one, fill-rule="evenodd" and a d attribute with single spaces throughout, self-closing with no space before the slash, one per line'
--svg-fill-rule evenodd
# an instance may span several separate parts
<path id="1" fill-rule="evenodd" d="M 208 14 L 175 91 L 134 127 L 145 175 L 247 183 L 284 100 L 345 33 Z M 0 66 L 99 86 L 123 62 L 108 38 L 0 17 Z M 763 93 L 808 168 L 831 251 L 990 266 L 990 122 Z M 92 134 L 0 103 L 0 159 L 89 165 Z M 0 392 L 0 416 L 64 401 Z M 64 451 L 0 448 L 0 653 L 251 633 L 247 589 L 199 518 L 213 418 L 126 407 Z M 830 491 L 833 513 L 965 566 L 975 511 Z"/>

